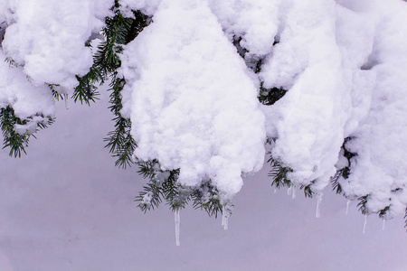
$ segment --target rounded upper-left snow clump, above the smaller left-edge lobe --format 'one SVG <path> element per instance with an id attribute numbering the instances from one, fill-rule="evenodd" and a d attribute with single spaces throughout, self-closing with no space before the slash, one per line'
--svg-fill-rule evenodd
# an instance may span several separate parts
<path id="1" fill-rule="evenodd" d="M 5 54 L 24 65 L 33 84 L 59 84 L 72 91 L 78 84 L 75 75 L 86 74 L 92 65 L 90 48 L 84 43 L 92 32 L 99 32 L 112 3 L 15 1 L 7 17 Z"/>

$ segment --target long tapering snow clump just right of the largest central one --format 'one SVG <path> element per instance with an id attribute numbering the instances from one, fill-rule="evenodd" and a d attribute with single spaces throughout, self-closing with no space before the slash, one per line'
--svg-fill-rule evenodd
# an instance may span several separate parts
<path id="1" fill-rule="evenodd" d="M 336 45 L 335 3 L 293 1 L 279 43 L 263 65 L 266 88 L 289 89 L 265 108 L 272 155 L 294 170 L 290 180 L 322 190 L 335 172 L 349 105 Z M 317 81 L 316 81 L 317 79 Z"/>

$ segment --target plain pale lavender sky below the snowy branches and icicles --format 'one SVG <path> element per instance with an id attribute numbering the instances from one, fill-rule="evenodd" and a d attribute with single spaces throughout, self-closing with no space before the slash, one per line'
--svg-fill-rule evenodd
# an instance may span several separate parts
<path id="1" fill-rule="evenodd" d="M 2 150 L 0 270 L 407 270 L 402 218 L 364 216 L 326 191 L 316 199 L 273 192 L 268 168 L 245 179 L 229 229 L 204 211 L 181 211 L 181 246 L 166 205 L 146 215 L 133 202 L 145 181 L 103 148 L 112 128 L 106 98 L 57 105 L 57 121 L 21 159 Z"/>

